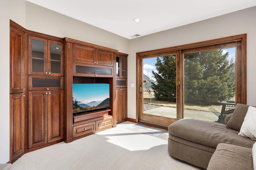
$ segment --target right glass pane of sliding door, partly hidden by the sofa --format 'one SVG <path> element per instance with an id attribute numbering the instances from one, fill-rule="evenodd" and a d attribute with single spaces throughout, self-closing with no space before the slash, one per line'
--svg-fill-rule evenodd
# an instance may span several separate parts
<path id="1" fill-rule="evenodd" d="M 233 47 L 184 53 L 184 118 L 224 123 L 232 113 L 235 51 Z"/>

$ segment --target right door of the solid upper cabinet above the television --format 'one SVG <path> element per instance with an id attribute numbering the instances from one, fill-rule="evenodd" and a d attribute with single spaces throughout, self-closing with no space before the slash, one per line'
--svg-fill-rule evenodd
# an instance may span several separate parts
<path id="1" fill-rule="evenodd" d="M 96 64 L 113 66 L 113 53 L 110 51 L 97 49 L 96 52 Z"/>

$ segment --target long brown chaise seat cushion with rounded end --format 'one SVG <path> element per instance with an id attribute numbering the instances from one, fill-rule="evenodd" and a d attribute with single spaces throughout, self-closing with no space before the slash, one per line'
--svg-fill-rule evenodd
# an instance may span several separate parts
<path id="1" fill-rule="evenodd" d="M 181 119 L 172 123 L 168 130 L 171 139 L 176 136 L 212 148 L 216 148 L 219 143 L 252 148 L 255 142 L 250 138 L 239 136 L 237 130 L 226 128 L 224 124 L 196 119 Z"/>

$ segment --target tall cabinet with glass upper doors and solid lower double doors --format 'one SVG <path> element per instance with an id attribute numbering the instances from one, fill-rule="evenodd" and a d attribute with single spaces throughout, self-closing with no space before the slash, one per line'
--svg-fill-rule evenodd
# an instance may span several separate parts
<path id="1" fill-rule="evenodd" d="M 62 42 L 28 36 L 28 149 L 63 140 Z"/>

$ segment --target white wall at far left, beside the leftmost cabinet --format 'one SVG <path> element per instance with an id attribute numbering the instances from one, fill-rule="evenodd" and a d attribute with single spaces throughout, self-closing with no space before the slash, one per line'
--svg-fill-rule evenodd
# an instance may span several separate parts
<path id="1" fill-rule="evenodd" d="M 7 163 L 10 154 L 10 19 L 24 27 L 26 20 L 25 14 L 25 0 L 0 1 L 0 164 Z"/>

